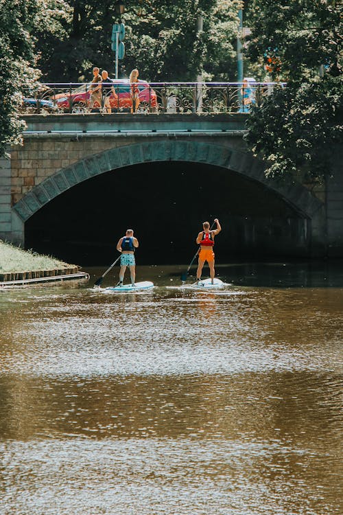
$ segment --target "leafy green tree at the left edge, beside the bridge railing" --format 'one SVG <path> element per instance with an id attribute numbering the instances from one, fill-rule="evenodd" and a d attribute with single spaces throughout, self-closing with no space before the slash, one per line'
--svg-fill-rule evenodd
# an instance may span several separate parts
<path id="1" fill-rule="evenodd" d="M 33 34 L 38 26 L 54 30 L 65 7 L 62 0 L 0 0 L 0 156 L 8 145 L 21 143 L 25 123 L 17 111 L 40 74 Z"/>

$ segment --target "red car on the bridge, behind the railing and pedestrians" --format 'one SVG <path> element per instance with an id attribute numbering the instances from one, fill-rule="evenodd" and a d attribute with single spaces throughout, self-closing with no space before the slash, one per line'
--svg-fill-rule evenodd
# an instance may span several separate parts
<path id="1" fill-rule="evenodd" d="M 115 95 L 113 92 L 108 95 L 110 100 L 110 106 L 115 111 L 122 111 L 123 109 L 130 109 L 132 107 L 132 100 L 130 95 L 130 82 L 128 79 L 114 79 L 113 87 L 115 89 Z M 139 111 L 150 110 L 150 108 L 156 108 L 157 98 L 156 92 L 145 80 L 138 81 L 139 89 Z M 60 91 L 61 85 L 58 87 Z M 82 84 L 80 87 L 72 88 L 67 87 L 63 93 L 55 93 L 51 95 L 51 100 L 56 102 L 58 108 L 64 113 L 72 112 L 77 113 L 83 111 L 84 108 L 88 107 L 90 99 L 91 84 Z M 94 103 L 93 108 L 99 108 L 97 102 Z"/>

